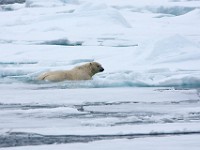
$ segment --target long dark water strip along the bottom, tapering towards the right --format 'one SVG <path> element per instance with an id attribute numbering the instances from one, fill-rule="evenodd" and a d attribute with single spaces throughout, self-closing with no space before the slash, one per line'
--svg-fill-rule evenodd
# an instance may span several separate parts
<path id="1" fill-rule="evenodd" d="M 196 132 L 174 132 L 174 133 L 151 133 L 151 134 L 118 134 L 118 135 L 41 135 L 34 133 L 10 132 L 0 135 L 0 147 L 28 146 L 28 145 L 48 145 L 66 143 L 87 143 L 99 140 L 112 139 L 134 139 L 147 137 L 162 137 L 174 135 L 195 135 Z"/>

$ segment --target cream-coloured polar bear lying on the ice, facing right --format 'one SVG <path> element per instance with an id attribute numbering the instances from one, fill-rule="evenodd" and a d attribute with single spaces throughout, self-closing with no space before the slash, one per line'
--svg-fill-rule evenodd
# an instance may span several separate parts
<path id="1" fill-rule="evenodd" d="M 103 72 L 104 68 L 98 62 L 90 62 L 77 66 L 71 70 L 50 71 L 38 76 L 38 80 L 59 82 L 64 80 L 90 80 L 98 72 Z"/>

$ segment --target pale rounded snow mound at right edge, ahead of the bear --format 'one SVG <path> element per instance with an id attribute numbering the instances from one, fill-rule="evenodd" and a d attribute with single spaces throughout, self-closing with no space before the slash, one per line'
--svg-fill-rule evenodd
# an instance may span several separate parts
<path id="1" fill-rule="evenodd" d="M 195 42 L 174 35 L 156 42 L 148 59 L 157 63 L 194 60 L 200 58 L 199 48 Z"/>

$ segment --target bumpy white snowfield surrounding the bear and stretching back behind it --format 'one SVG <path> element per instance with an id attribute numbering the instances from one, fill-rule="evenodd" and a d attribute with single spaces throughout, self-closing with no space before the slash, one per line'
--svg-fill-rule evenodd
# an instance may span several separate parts
<path id="1" fill-rule="evenodd" d="M 41 72 L 98 61 L 105 72 L 92 81 L 45 86 L 198 87 L 198 3 L 28 0 L 26 6 L 2 5 L 0 82 L 40 85 L 35 78 Z"/>

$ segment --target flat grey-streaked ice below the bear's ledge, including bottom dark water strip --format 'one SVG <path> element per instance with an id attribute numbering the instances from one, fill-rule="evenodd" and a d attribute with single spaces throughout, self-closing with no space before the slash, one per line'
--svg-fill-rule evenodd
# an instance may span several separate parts
<path id="1" fill-rule="evenodd" d="M 1 147 L 195 136 L 200 132 L 199 90 L 41 90 L 7 85 L 1 92 Z"/>

